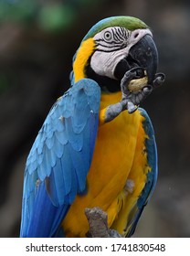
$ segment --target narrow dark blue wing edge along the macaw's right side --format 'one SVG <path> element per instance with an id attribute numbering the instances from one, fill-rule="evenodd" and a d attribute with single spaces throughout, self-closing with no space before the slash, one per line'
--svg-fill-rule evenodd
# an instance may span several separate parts
<path id="1" fill-rule="evenodd" d="M 145 140 L 145 147 L 147 152 L 147 161 L 148 165 L 151 167 L 151 171 L 147 174 L 146 183 L 142 189 L 141 197 L 138 198 L 136 205 L 132 209 L 131 216 L 129 217 L 129 223 L 126 227 L 127 237 L 131 237 L 136 229 L 137 223 L 142 215 L 142 210 L 153 194 L 153 189 L 155 187 L 158 174 L 157 147 L 154 138 L 153 125 L 147 112 L 145 112 L 142 108 L 139 108 L 139 111 L 144 117 L 142 125 L 145 133 L 147 134 L 147 138 Z"/>

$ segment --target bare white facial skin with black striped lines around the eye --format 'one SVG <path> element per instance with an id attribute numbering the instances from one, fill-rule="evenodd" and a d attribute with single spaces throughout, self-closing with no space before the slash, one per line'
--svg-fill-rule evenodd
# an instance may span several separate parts
<path id="1" fill-rule="evenodd" d="M 150 29 L 127 30 L 124 27 L 108 27 L 93 37 L 97 48 L 90 59 L 90 66 L 100 76 L 115 79 L 117 64 L 128 56 L 130 48 L 145 35 L 152 35 Z"/>

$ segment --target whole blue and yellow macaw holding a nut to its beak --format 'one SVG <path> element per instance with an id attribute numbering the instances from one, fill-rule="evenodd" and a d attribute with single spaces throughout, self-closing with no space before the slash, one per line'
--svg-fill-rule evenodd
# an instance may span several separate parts
<path id="1" fill-rule="evenodd" d="M 135 17 L 105 18 L 83 38 L 71 87 L 26 160 L 21 237 L 85 237 L 93 207 L 132 236 L 157 177 L 153 126 L 138 108 L 163 81 L 157 62 L 152 32 Z"/>

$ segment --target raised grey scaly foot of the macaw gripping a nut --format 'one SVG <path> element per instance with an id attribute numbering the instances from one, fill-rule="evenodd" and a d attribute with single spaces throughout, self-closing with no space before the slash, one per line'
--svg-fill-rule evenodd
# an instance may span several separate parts
<path id="1" fill-rule="evenodd" d="M 105 122 L 110 122 L 124 110 L 129 113 L 135 112 L 139 104 L 151 94 L 153 89 L 161 86 L 164 83 L 165 76 L 163 73 L 155 74 L 153 85 L 147 84 L 141 91 L 129 91 L 128 85 L 131 80 L 137 80 L 144 77 L 144 69 L 141 67 L 128 70 L 121 80 L 121 101 L 110 105 L 105 113 Z"/>

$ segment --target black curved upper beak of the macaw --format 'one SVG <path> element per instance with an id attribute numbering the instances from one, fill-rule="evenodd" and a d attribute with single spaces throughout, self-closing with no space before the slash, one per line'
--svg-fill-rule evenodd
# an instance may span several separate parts
<path id="1" fill-rule="evenodd" d="M 148 84 L 153 84 L 158 66 L 158 52 L 153 42 L 153 37 L 150 35 L 142 37 L 142 39 L 130 49 L 129 59 L 127 58 L 126 60 L 130 66 L 135 63 L 135 66 L 137 64 L 139 67 L 145 69 L 148 76 Z"/>

